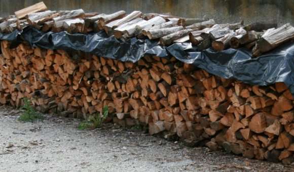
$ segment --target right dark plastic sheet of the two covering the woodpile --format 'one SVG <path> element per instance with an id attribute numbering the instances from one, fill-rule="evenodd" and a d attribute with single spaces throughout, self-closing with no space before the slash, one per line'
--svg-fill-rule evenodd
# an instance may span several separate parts
<path id="1" fill-rule="evenodd" d="M 209 73 L 224 78 L 235 78 L 250 84 L 269 85 L 284 82 L 294 94 L 294 44 L 289 42 L 270 53 L 252 58 L 245 49 L 215 52 L 197 51 L 191 43 L 176 43 L 167 48 L 176 59 L 194 64 Z"/>

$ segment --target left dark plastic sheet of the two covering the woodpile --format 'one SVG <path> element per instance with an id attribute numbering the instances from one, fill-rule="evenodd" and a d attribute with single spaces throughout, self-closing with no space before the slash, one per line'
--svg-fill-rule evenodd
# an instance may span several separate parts
<path id="1" fill-rule="evenodd" d="M 22 31 L 15 30 L 10 34 L 2 34 L 0 39 L 17 42 L 25 40 L 32 47 L 69 52 L 82 51 L 124 62 L 135 63 L 144 55 L 156 55 L 162 58 L 168 56 L 165 47 L 158 45 L 158 41 L 136 37 L 123 41 L 108 36 L 104 31 L 87 34 L 69 34 L 66 31 L 44 33 L 33 27 L 26 27 Z"/>

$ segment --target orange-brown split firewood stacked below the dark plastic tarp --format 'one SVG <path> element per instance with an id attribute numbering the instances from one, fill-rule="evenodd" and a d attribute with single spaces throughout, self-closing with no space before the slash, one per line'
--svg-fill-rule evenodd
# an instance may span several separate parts
<path id="1" fill-rule="evenodd" d="M 87 118 L 104 106 L 122 126 L 247 158 L 294 161 L 293 97 L 282 83 L 248 85 L 145 56 L 137 63 L 1 41 L 0 103 L 29 98 L 42 112 Z"/>

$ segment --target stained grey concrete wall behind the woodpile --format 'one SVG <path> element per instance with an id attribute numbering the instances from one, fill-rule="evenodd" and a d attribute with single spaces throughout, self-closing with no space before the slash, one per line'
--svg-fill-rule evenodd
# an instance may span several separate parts
<path id="1" fill-rule="evenodd" d="M 0 0 L 0 16 L 38 3 L 40 0 Z M 171 13 L 176 16 L 197 18 L 206 16 L 216 22 L 238 22 L 275 19 L 279 25 L 294 25 L 294 0 L 44 0 L 51 10 L 82 8 L 87 12 Z"/>

